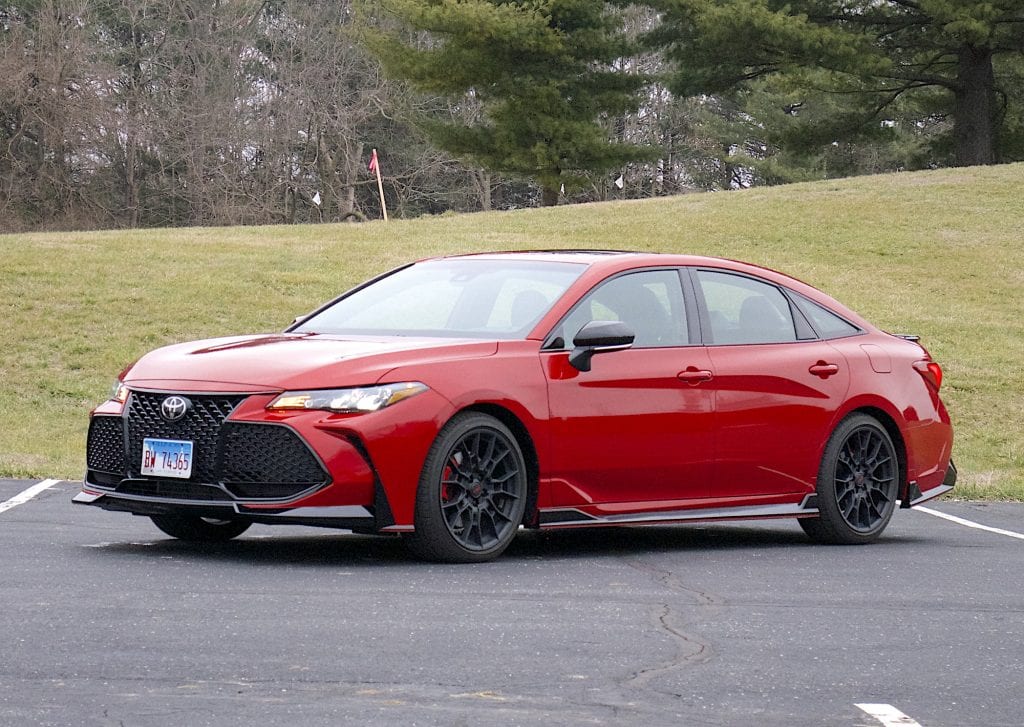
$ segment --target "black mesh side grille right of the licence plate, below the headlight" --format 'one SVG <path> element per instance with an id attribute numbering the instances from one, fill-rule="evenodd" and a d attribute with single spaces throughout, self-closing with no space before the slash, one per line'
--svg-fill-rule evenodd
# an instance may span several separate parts
<path id="1" fill-rule="evenodd" d="M 328 479 L 309 447 L 287 427 L 227 424 L 222 436 L 222 481 L 239 497 L 284 498 Z"/>

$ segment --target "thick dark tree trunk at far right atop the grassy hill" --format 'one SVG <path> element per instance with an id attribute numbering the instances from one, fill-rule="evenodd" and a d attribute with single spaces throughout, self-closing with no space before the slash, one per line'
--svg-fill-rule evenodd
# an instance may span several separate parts
<path id="1" fill-rule="evenodd" d="M 959 49 L 953 106 L 957 167 L 995 164 L 995 118 L 992 51 L 965 45 Z"/>

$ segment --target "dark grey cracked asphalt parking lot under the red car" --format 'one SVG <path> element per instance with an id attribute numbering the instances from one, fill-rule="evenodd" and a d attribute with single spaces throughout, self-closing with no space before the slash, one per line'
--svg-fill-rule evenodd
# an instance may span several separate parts
<path id="1" fill-rule="evenodd" d="M 302 527 L 188 545 L 31 484 L 0 480 L 0 725 L 1024 724 L 1024 505 L 932 506 L 1002 532 L 898 511 L 867 547 L 745 522 L 432 565 Z"/>

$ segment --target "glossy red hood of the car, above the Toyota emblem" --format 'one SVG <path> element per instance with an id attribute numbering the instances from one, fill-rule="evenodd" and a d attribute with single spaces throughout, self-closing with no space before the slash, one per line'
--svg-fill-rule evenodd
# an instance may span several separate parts
<path id="1" fill-rule="evenodd" d="M 272 334 L 158 348 L 125 376 L 136 388 L 257 392 L 360 386 L 395 367 L 493 355 L 495 341 Z"/>

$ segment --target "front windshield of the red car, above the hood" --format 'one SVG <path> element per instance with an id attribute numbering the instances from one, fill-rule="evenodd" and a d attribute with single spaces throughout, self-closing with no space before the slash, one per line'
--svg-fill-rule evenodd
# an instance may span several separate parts
<path id="1" fill-rule="evenodd" d="M 430 260 L 346 295 L 293 331 L 522 338 L 584 269 L 542 260 Z"/>

